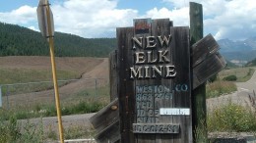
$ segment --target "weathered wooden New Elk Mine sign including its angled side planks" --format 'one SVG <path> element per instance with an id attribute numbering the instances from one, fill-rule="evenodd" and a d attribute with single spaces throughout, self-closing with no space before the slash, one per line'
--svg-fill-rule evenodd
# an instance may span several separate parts
<path id="1" fill-rule="evenodd" d="M 117 37 L 109 58 L 113 102 L 91 119 L 96 141 L 192 142 L 190 92 L 226 64 L 214 37 L 189 51 L 189 28 L 172 27 L 168 19 L 135 21 L 117 28 Z"/>

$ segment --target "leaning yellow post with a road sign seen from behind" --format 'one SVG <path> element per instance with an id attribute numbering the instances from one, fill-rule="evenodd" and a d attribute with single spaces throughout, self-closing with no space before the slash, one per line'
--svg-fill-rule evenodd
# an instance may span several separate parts
<path id="1" fill-rule="evenodd" d="M 58 82 L 57 82 L 57 74 L 56 74 L 56 66 L 55 66 L 55 57 L 54 57 L 54 26 L 53 26 L 53 17 L 49 7 L 48 0 L 40 0 L 37 7 L 37 18 L 40 31 L 44 37 L 47 38 L 49 42 L 50 48 L 50 59 L 51 59 L 51 68 L 52 68 L 52 76 L 53 76 L 53 84 L 54 84 L 54 92 L 55 92 L 55 102 L 57 109 L 57 117 L 58 117 L 58 126 L 59 126 L 59 138 L 61 143 L 64 143 L 63 138 L 63 126 L 61 119 L 61 111 L 60 111 L 60 101 L 59 101 L 59 91 L 58 91 Z"/>

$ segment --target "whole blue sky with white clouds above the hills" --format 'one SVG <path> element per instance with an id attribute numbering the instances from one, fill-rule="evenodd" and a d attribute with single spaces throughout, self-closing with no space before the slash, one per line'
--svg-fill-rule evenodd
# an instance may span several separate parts
<path id="1" fill-rule="evenodd" d="M 0 0 L 0 22 L 38 31 L 39 0 Z M 165 19 L 189 26 L 191 0 L 49 0 L 55 31 L 85 38 L 115 37 L 133 19 Z M 204 35 L 244 40 L 256 36 L 255 0 L 193 0 L 203 5 Z"/>

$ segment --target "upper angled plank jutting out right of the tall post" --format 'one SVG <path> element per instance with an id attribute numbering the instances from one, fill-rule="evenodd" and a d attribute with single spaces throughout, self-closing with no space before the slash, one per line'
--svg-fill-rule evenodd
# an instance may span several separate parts
<path id="1" fill-rule="evenodd" d="M 207 57 L 215 54 L 220 49 L 220 46 L 213 35 L 208 34 L 206 37 L 193 44 L 191 48 L 192 68 L 194 68 L 207 59 Z"/>

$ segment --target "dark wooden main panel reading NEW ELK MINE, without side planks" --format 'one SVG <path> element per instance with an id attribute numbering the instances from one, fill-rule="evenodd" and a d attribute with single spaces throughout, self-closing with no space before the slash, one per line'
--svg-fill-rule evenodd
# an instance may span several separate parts
<path id="1" fill-rule="evenodd" d="M 117 28 L 121 142 L 192 142 L 189 27 L 138 22 Z"/>

